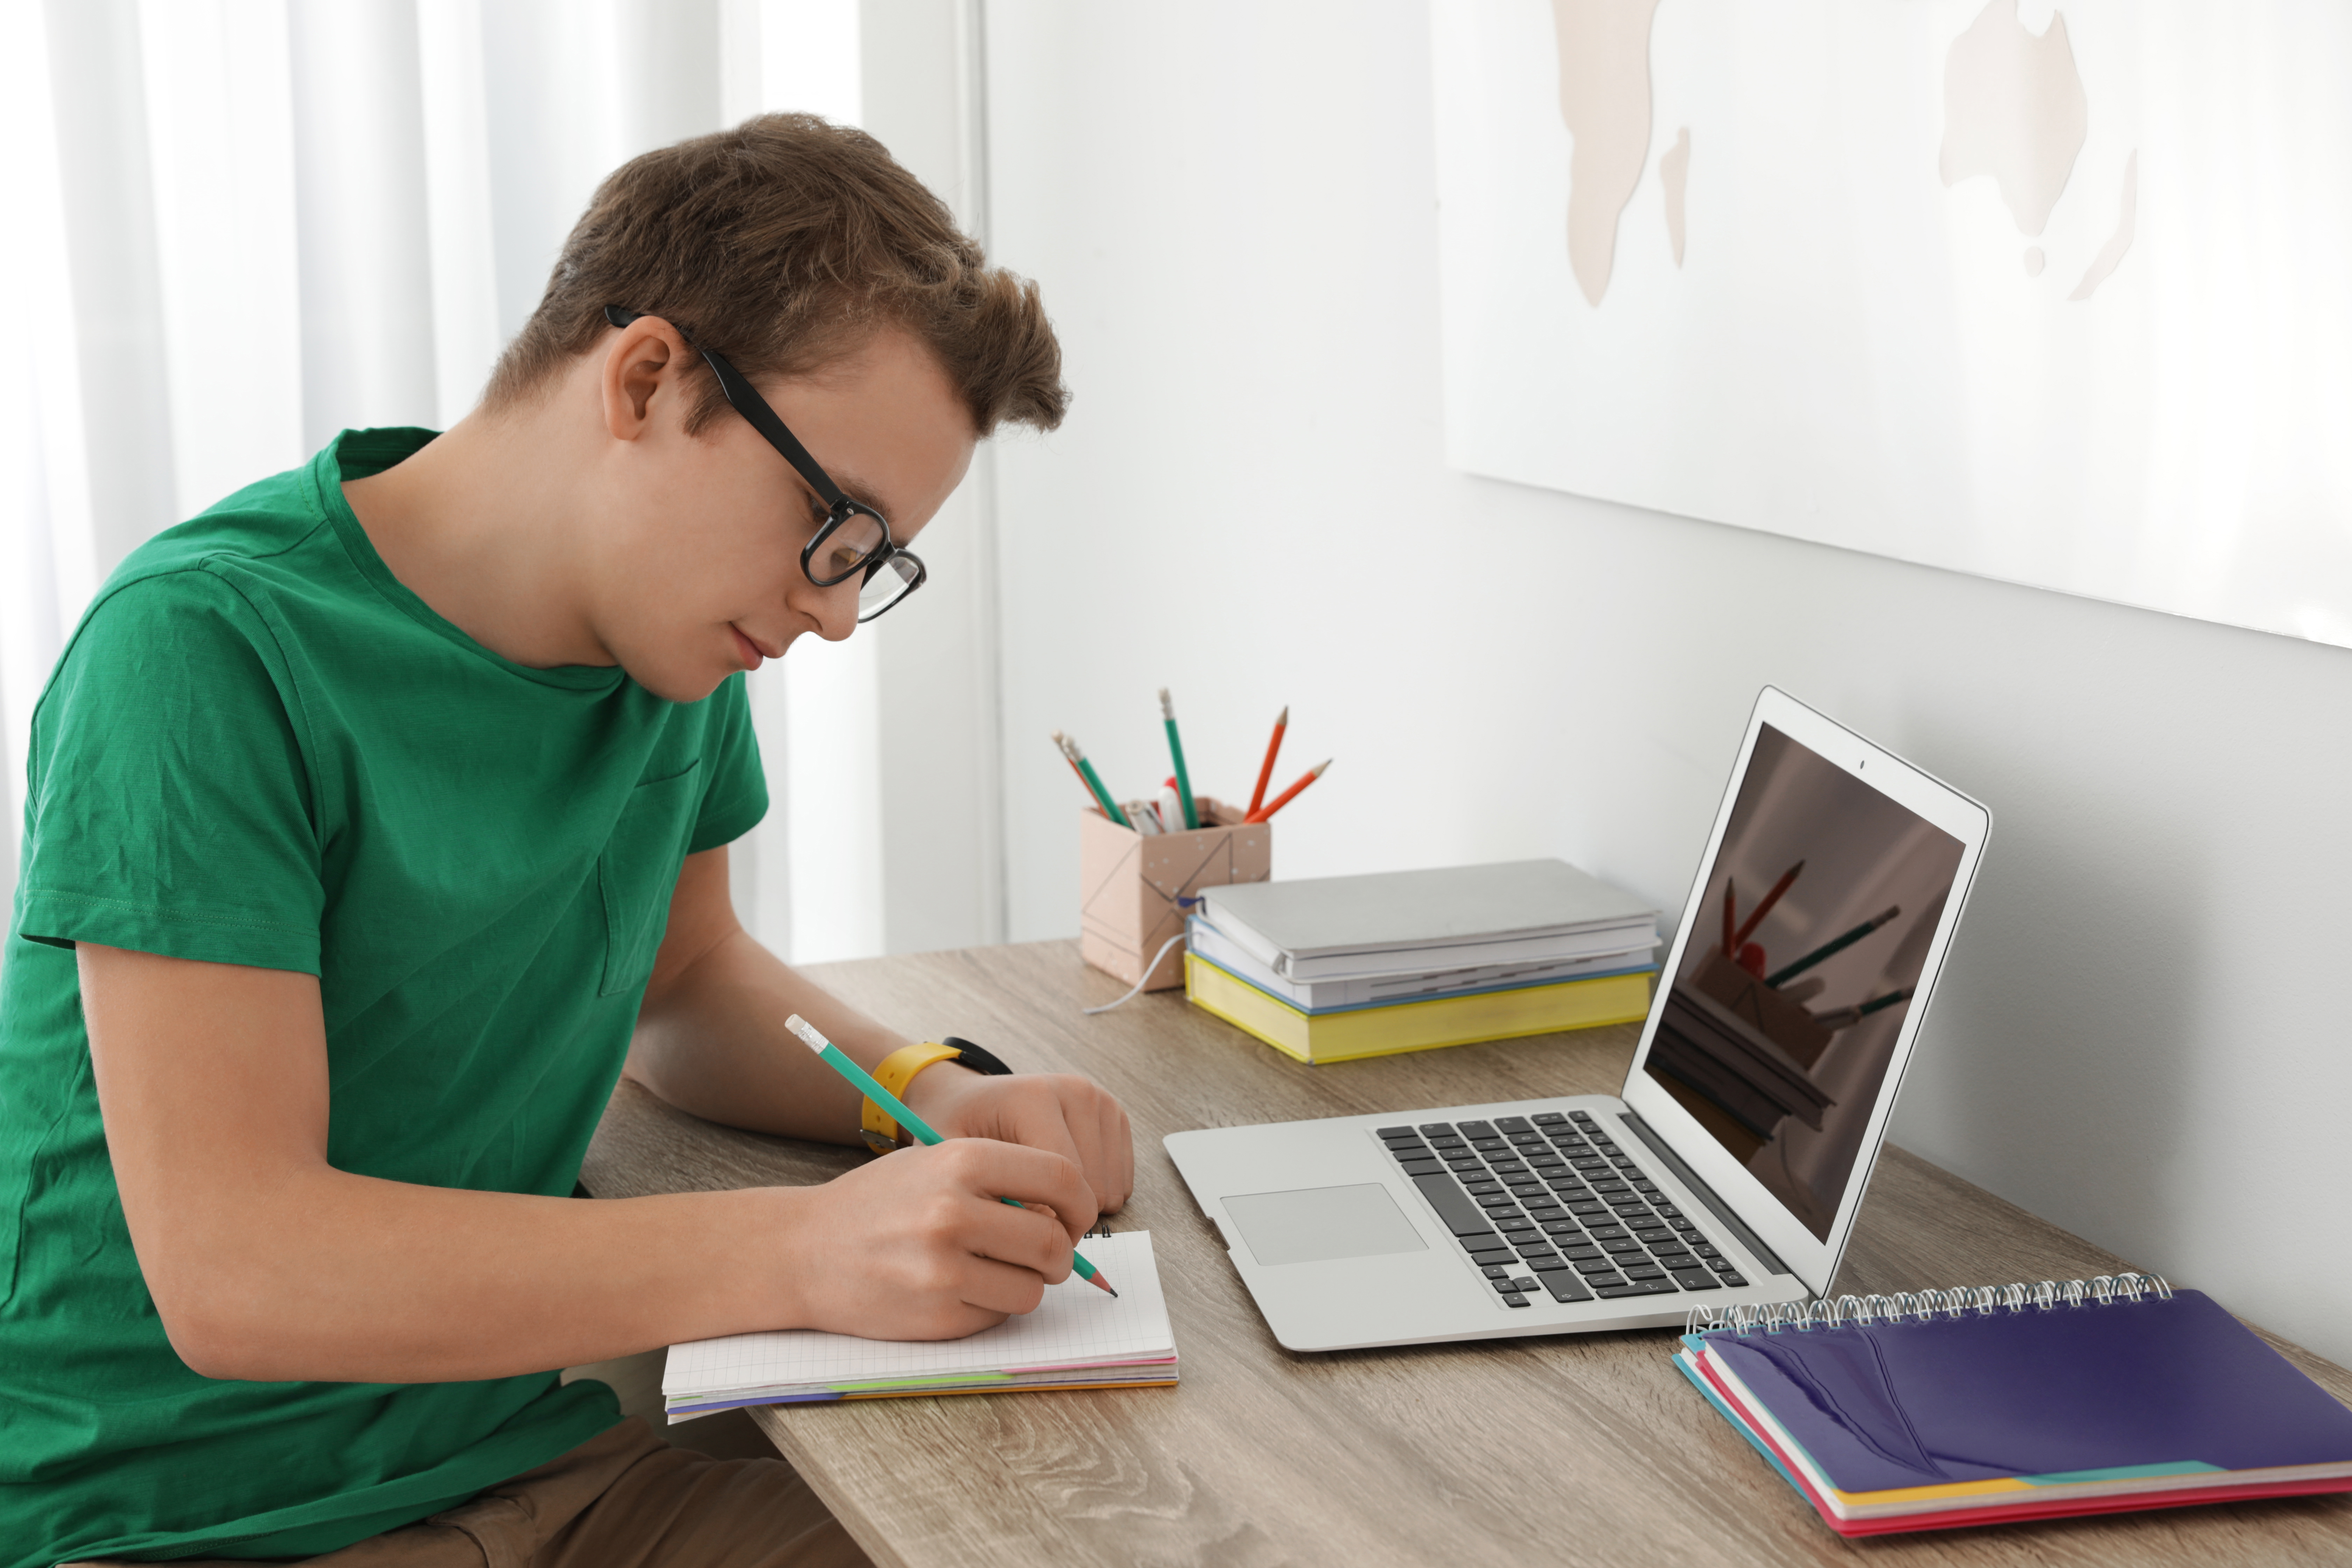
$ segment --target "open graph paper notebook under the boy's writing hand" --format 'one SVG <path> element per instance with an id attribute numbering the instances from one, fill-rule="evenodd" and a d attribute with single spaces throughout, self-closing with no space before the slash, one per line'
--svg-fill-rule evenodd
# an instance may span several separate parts
<path id="1" fill-rule="evenodd" d="M 1120 1286 L 1117 1298 L 1073 1274 L 1047 1286 L 1044 1302 L 1028 1316 L 964 1340 L 788 1331 L 673 1345 L 661 1375 L 663 1403 L 680 1422 L 736 1406 L 1176 1382 L 1176 1335 L 1160 1293 L 1152 1234 L 1089 1237 L 1087 1258 Z"/>

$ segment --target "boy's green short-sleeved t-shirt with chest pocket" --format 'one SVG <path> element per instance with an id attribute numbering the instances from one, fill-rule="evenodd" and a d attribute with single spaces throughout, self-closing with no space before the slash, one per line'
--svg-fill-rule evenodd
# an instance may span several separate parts
<path id="1" fill-rule="evenodd" d="M 0 973 L 0 1563 L 301 1556 L 452 1507 L 619 1410 L 557 1375 L 216 1382 L 122 1222 L 73 943 L 320 978 L 327 1159 L 569 1194 L 687 853 L 767 811 L 743 679 L 670 703 L 433 614 L 343 503 L 346 430 L 136 550 L 33 715 Z"/>

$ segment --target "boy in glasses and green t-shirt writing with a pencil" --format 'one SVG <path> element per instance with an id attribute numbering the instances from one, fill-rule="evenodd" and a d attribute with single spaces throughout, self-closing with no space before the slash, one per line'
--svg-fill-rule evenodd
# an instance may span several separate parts
<path id="1" fill-rule="evenodd" d="M 33 717 L 0 1563 L 863 1561 L 781 1460 L 548 1368 L 964 1335 L 1127 1199 L 1108 1093 L 910 1051 L 727 900 L 767 809 L 743 672 L 913 592 L 1058 367 L 1035 287 L 880 143 L 762 118 L 604 181 L 447 435 L 348 430 L 122 564 Z M 572 1199 L 623 1058 L 856 1140 L 790 1013 L 950 1143 Z"/>

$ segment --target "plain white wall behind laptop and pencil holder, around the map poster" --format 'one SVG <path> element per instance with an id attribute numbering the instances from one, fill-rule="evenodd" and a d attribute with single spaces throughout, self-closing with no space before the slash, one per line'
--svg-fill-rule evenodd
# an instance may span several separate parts
<path id="1" fill-rule="evenodd" d="M 1277 875 L 1675 912 L 1771 682 L 1994 813 L 1896 1138 L 2352 1361 L 2352 654 L 1451 473 L 1421 5 L 988 24 L 993 249 L 1077 390 L 997 454 L 1014 938 L 1077 929 L 1047 733 L 1138 792 L 1155 686 L 1202 790 L 1282 703 L 1284 773 L 1338 757 Z"/>

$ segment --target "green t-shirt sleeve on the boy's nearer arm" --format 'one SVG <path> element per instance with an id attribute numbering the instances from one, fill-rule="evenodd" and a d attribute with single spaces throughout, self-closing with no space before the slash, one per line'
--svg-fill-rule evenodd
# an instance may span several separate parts
<path id="1" fill-rule="evenodd" d="M 318 973 L 310 771 L 278 644 L 209 571 L 111 592 L 33 712 L 19 933 Z"/>

